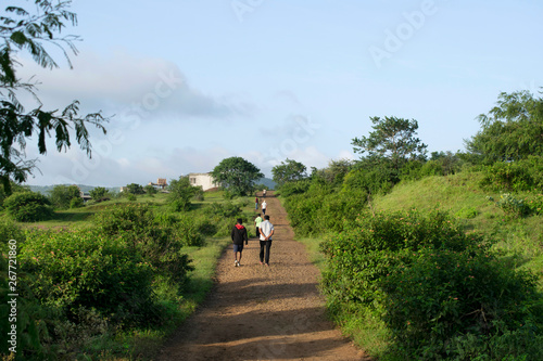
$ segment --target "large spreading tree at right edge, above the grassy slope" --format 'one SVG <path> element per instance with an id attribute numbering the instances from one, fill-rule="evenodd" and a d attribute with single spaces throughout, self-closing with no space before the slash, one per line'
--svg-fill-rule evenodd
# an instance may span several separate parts
<path id="1" fill-rule="evenodd" d="M 520 160 L 543 155 L 543 99 L 529 91 L 502 92 L 496 106 L 478 117 L 481 130 L 466 149 L 475 163 Z"/>

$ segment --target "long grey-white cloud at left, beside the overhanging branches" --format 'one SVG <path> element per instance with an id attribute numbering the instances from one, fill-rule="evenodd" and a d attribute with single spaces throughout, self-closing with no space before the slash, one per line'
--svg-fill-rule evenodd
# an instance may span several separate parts
<path id="1" fill-rule="evenodd" d="M 103 109 L 118 115 L 136 109 L 150 119 L 165 115 L 225 118 L 254 111 L 247 99 L 217 96 L 194 88 L 175 63 L 164 59 L 117 51 L 108 59 L 80 54 L 73 64 L 73 69 L 66 65 L 49 70 L 23 60 L 18 76 L 26 79 L 36 75 L 41 83 L 38 96 L 46 108 L 62 107 L 77 99 L 85 112 Z"/>

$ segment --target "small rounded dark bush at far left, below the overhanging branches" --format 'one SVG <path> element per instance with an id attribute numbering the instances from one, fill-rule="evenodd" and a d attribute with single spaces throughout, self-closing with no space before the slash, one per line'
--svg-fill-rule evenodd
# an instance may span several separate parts
<path id="1" fill-rule="evenodd" d="M 36 222 L 52 218 L 51 202 L 34 192 L 21 192 L 10 195 L 4 201 L 8 214 L 18 222 Z"/>

